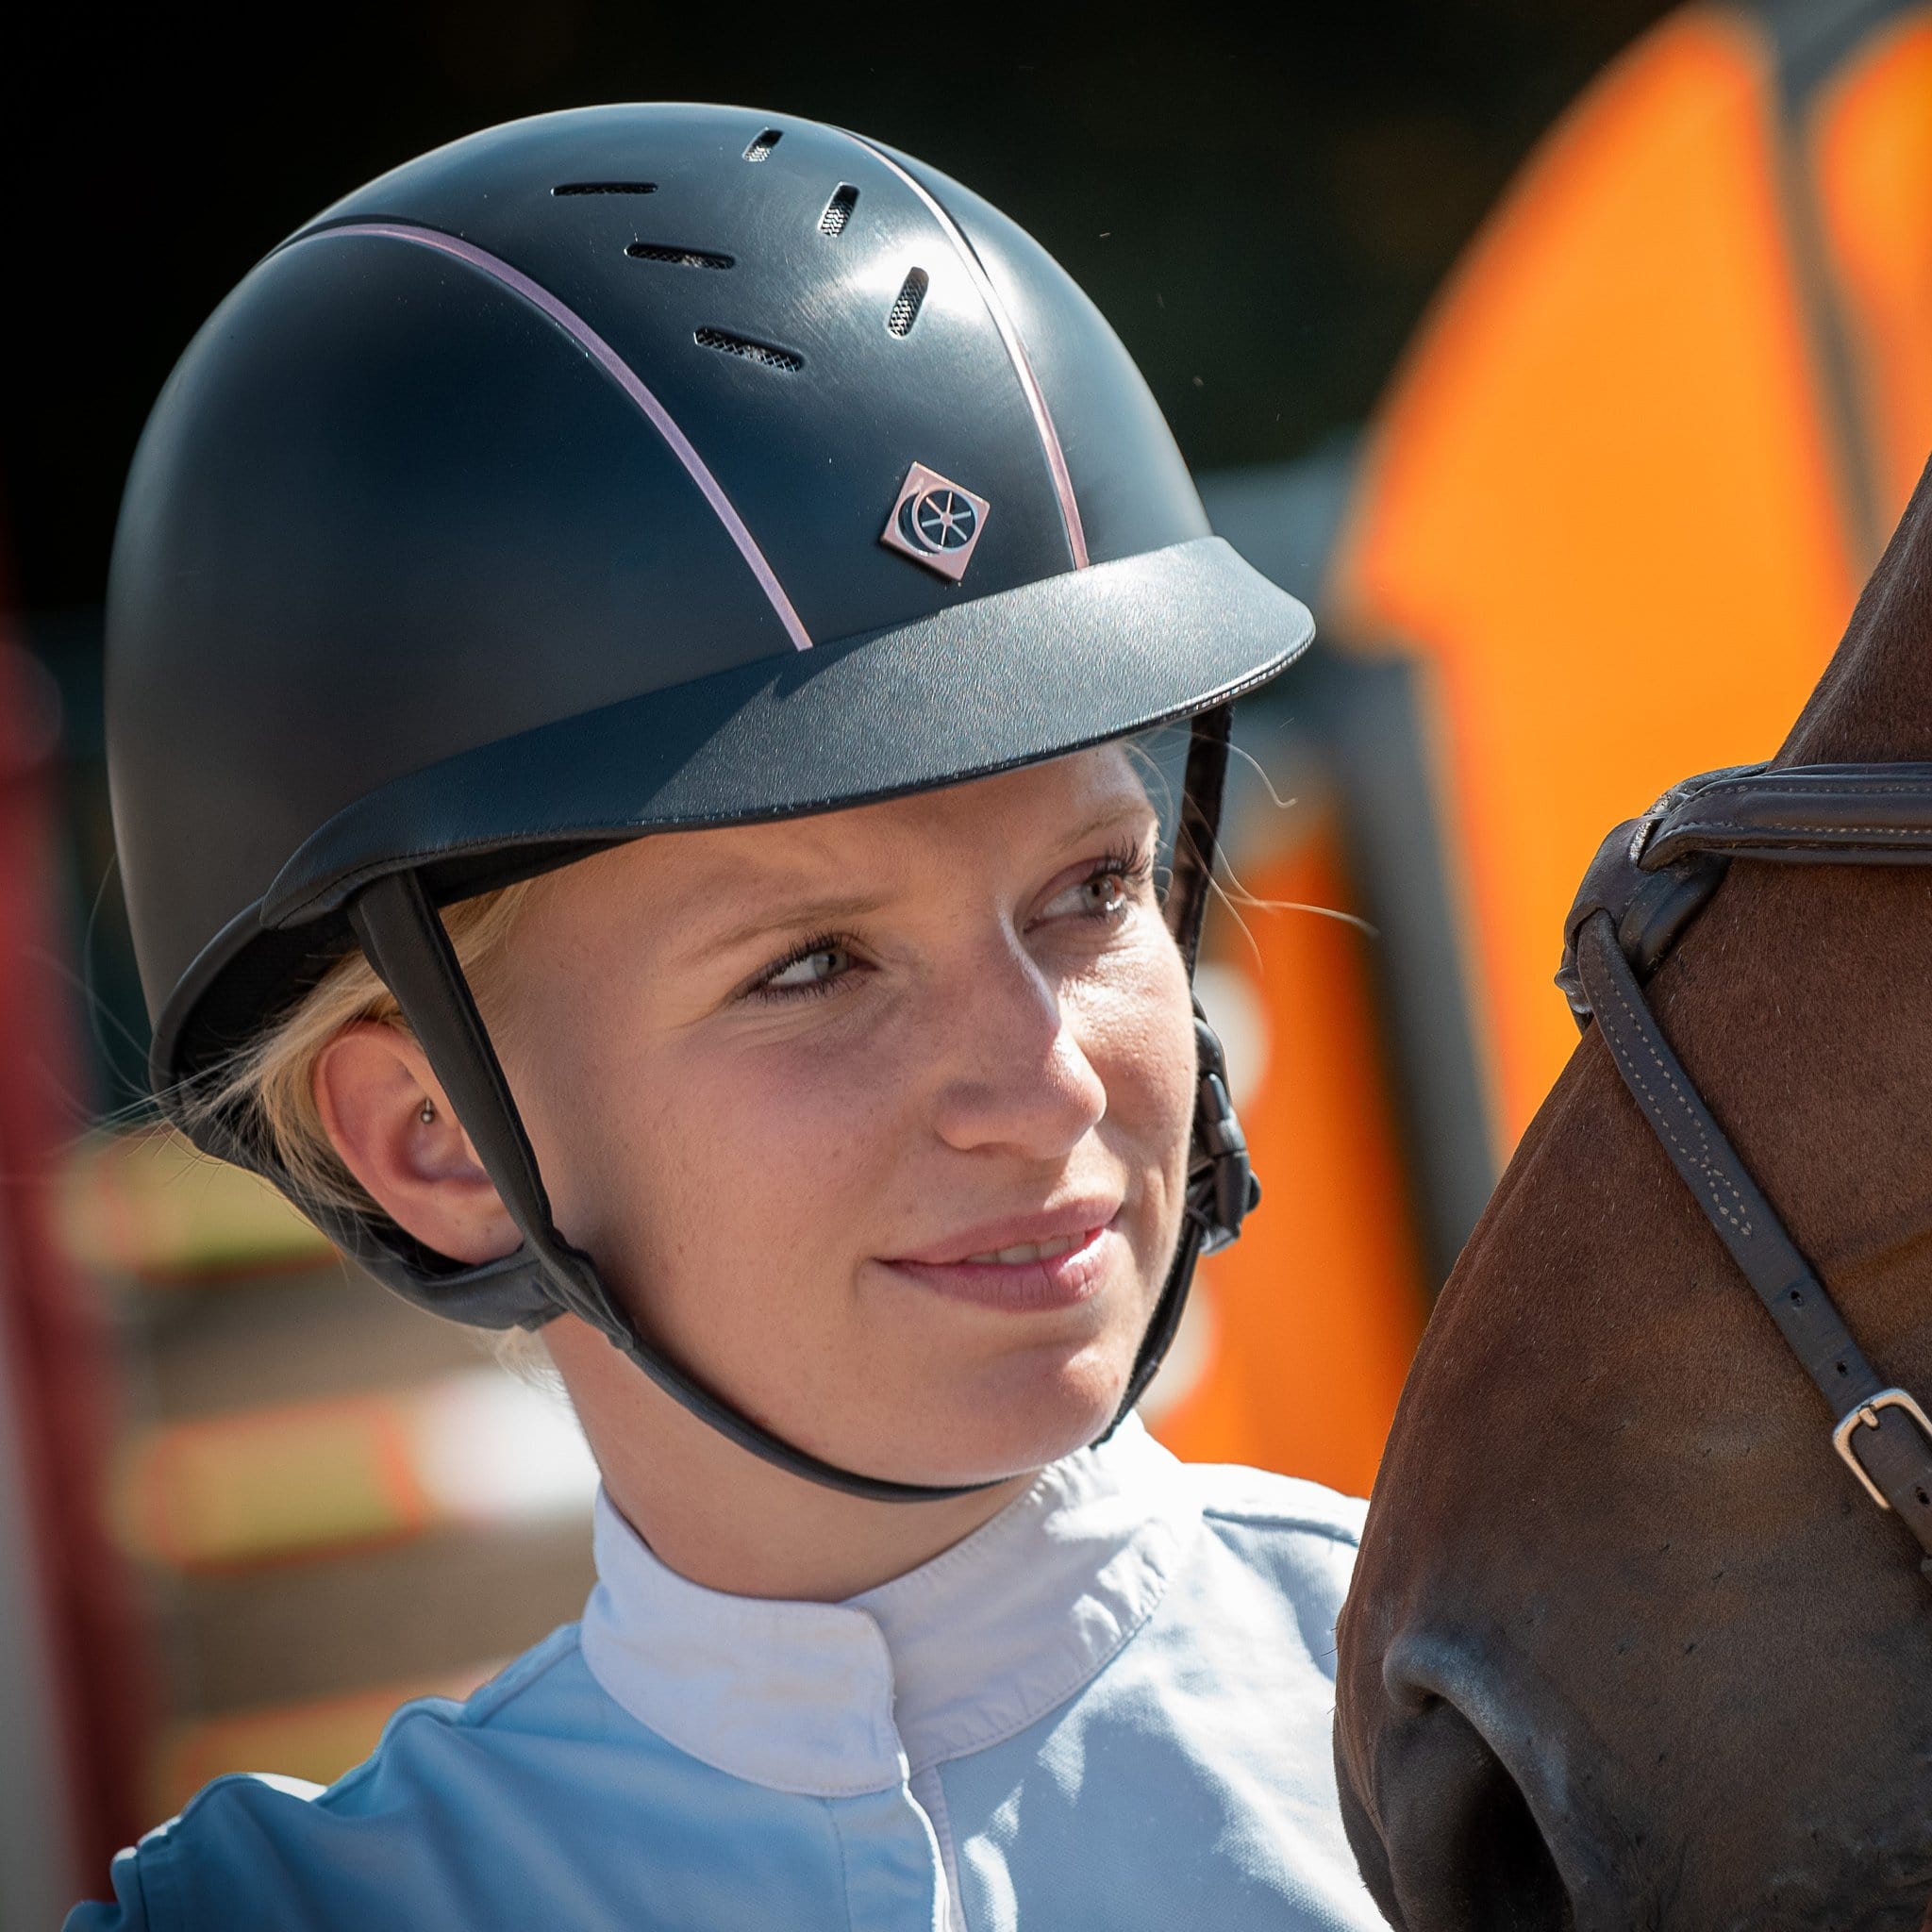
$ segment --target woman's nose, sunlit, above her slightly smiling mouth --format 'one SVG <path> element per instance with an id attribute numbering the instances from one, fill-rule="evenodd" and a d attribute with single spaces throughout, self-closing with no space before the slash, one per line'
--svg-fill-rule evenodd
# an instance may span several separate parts
<path id="1" fill-rule="evenodd" d="M 943 999 L 937 1126 L 949 1146 L 1055 1159 L 1105 1117 L 1105 1082 L 1024 949 L 987 949 Z"/>

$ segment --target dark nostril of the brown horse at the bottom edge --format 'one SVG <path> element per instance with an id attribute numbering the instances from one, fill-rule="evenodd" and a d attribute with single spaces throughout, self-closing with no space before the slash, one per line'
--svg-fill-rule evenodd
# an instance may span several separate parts
<path id="1" fill-rule="evenodd" d="M 1482 1733 L 1435 1698 L 1378 1766 L 1389 1884 L 1412 1932 L 1571 1932 L 1555 1859 Z"/>

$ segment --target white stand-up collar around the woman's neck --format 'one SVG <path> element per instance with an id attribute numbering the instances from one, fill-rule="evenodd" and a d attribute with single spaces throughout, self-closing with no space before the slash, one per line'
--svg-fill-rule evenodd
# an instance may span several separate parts
<path id="1" fill-rule="evenodd" d="M 599 1490 L 583 1662 L 721 1772 L 811 1797 L 885 1791 L 1066 1702 L 1151 1615 L 1198 1530 L 1180 1464 L 1136 1418 L 844 1604 L 705 1590 Z"/>

